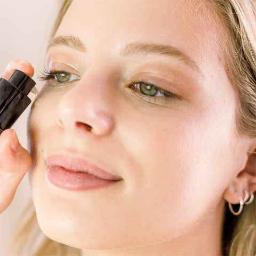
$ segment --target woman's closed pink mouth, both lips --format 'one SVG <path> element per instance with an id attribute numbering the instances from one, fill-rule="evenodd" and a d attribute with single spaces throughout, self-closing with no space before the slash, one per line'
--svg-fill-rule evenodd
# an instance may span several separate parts
<path id="1" fill-rule="evenodd" d="M 122 178 L 107 172 L 84 157 L 56 153 L 45 157 L 46 178 L 52 185 L 68 190 L 87 190 L 114 185 Z"/>

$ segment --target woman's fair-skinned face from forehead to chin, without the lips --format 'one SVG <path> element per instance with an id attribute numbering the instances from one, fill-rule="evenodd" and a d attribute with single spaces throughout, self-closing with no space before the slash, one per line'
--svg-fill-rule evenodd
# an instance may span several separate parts
<path id="1" fill-rule="evenodd" d="M 214 15 L 201 1 L 73 1 L 45 63 L 73 75 L 44 82 L 29 121 L 31 190 L 47 236 L 113 249 L 182 237 L 221 216 L 247 145 L 235 133 Z M 122 180 L 60 188 L 46 177 L 53 153 Z"/>

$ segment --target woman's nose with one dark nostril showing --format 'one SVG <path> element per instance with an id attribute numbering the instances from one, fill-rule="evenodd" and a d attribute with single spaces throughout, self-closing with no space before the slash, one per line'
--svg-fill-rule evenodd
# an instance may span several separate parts
<path id="1" fill-rule="evenodd" d="M 101 75 L 102 76 L 102 75 Z M 83 76 L 61 96 L 57 125 L 69 132 L 108 135 L 113 129 L 111 94 L 106 80 L 98 75 Z"/>

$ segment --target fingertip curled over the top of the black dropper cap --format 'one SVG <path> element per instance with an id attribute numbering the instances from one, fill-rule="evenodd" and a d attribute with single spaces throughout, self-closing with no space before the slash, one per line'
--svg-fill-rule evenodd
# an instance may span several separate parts
<path id="1" fill-rule="evenodd" d="M 9 77 L 16 69 L 24 72 L 29 77 L 33 77 L 35 72 L 33 66 L 28 61 L 21 59 L 13 59 L 8 63 L 1 77 L 3 77 L 6 80 L 9 79 Z"/>

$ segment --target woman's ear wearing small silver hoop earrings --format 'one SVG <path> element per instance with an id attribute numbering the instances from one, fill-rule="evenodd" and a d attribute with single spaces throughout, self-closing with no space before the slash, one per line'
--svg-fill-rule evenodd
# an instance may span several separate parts
<path id="1" fill-rule="evenodd" d="M 244 169 L 237 174 L 233 182 L 225 190 L 223 197 L 231 204 L 239 204 L 239 196 L 245 198 L 244 189 L 250 196 L 250 191 L 256 191 L 256 144 L 254 150 L 248 150 L 248 157 Z"/>

